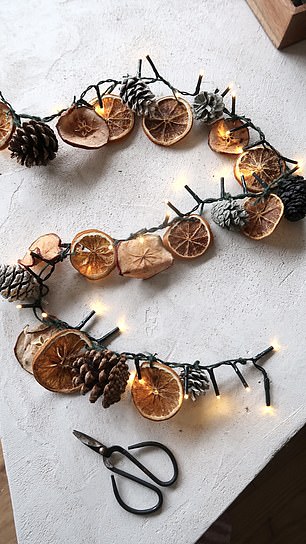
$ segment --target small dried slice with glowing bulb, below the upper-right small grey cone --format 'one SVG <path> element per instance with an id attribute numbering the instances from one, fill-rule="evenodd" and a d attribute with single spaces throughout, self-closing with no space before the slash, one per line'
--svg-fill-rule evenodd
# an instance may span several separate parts
<path id="1" fill-rule="evenodd" d="M 220 119 L 216 121 L 210 129 L 208 135 L 208 145 L 217 153 L 230 153 L 239 155 L 243 147 L 249 143 L 249 131 L 242 128 L 236 132 L 230 132 L 232 128 L 240 127 L 243 123 L 239 120 Z"/>

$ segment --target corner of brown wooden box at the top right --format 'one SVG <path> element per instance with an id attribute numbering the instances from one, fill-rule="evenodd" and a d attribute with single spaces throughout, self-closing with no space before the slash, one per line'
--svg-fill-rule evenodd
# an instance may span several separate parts
<path id="1" fill-rule="evenodd" d="M 306 5 L 291 0 L 247 0 L 260 24 L 278 49 L 306 39 Z"/>

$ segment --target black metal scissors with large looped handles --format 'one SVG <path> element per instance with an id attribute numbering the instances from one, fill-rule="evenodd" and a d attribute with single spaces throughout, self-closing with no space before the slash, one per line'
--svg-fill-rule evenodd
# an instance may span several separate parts
<path id="1" fill-rule="evenodd" d="M 104 446 L 104 444 L 101 444 L 101 442 L 98 442 L 94 438 L 91 438 L 91 436 L 81 433 L 80 431 L 73 431 L 73 434 L 83 444 L 85 444 L 85 446 L 88 446 L 90 449 L 92 449 L 96 453 L 99 453 L 100 455 L 102 455 L 103 462 L 106 468 L 108 468 L 112 472 L 115 472 L 115 474 L 119 474 L 120 476 L 123 476 L 124 478 L 128 478 L 129 480 L 133 480 L 133 482 L 136 482 L 144 487 L 148 487 L 149 489 L 152 489 L 152 491 L 154 491 L 156 495 L 158 496 L 157 503 L 151 508 L 146 508 L 144 510 L 138 510 L 137 508 L 132 508 L 131 506 L 128 506 L 120 497 L 115 476 L 112 475 L 111 480 L 112 480 L 115 497 L 118 503 L 120 504 L 120 506 L 124 508 L 124 510 L 127 510 L 127 512 L 131 512 L 132 514 L 152 514 L 153 512 L 156 512 L 157 510 L 159 510 L 159 508 L 161 508 L 163 504 L 163 495 L 161 490 L 156 485 L 153 485 L 145 480 L 142 480 L 141 478 L 138 478 L 137 476 L 134 476 L 133 474 L 129 474 L 129 472 L 125 472 L 124 470 L 116 468 L 112 464 L 110 457 L 112 456 L 113 453 L 120 453 L 121 455 L 129 459 L 132 463 L 134 463 L 134 465 L 136 465 L 140 470 L 142 470 L 142 472 L 144 472 L 149 478 L 151 478 L 151 480 L 153 480 L 153 482 L 155 482 L 157 485 L 160 485 L 162 487 L 168 487 L 174 484 L 174 482 L 177 480 L 178 466 L 177 466 L 177 462 L 175 460 L 173 453 L 166 446 L 164 446 L 163 444 L 160 444 L 159 442 L 152 442 L 152 441 L 139 442 L 138 444 L 133 444 L 132 446 L 128 446 L 129 450 L 134 450 L 136 448 L 153 447 L 153 448 L 160 448 L 164 452 L 166 452 L 173 466 L 173 476 L 170 480 L 163 482 L 162 480 L 159 480 L 159 478 L 154 476 L 154 474 L 152 474 L 152 472 L 150 472 L 149 469 L 147 469 L 142 463 L 140 463 L 140 461 L 138 461 L 138 459 L 136 459 L 136 457 L 134 457 L 127 450 L 125 450 L 122 446 L 111 446 L 110 448 L 107 448 L 106 446 Z"/>

